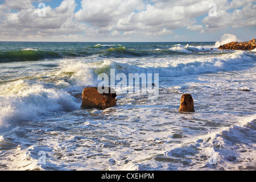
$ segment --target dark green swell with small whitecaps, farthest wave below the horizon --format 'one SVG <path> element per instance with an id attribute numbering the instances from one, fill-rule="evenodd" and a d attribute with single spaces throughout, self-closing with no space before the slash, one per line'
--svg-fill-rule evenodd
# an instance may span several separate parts
<path id="1" fill-rule="evenodd" d="M 145 49 L 143 47 L 134 49 L 133 47 L 125 47 L 121 44 L 97 44 L 86 48 L 65 49 L 51 51 L 49 49 L 40 50 L 34 48 L 23 48 L 16 50 L 0 51 L 0 63 L 8 63 L 10 61 L 38 61 L 44 59 L 62 59 L 74 57 L 97 56 L 107 58 L 125 58 L 125 57 L 156 57 L 166 55 L 192 54 L 198 52 L 209 52 L 208 47 L 201 46 L 183 46 L 180 44 L 169 46 L 166 48 Z"/>

